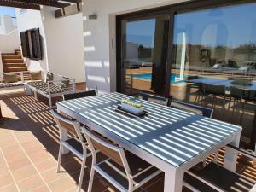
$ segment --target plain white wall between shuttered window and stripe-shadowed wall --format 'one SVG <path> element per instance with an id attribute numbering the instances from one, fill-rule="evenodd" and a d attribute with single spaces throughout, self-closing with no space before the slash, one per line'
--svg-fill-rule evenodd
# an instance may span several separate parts
<path id="1" fill-rule="evenodd" d="M 49 71 L 74 77 L 76 82 L 84 82 L 82 13 L 60 19 L 52 19 L 53 14 L 54 9 L 44 9 Z"/>

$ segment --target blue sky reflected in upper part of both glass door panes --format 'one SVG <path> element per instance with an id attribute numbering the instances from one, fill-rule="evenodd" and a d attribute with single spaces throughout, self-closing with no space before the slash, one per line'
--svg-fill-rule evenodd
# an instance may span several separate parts
<path id="1" fill-rule="evenodd" d="M 174 43 L 185 32 L 187 44 L 230 46 L 256 44 L 256 3 L 204 9 L 175 15 Z M 154 47 L 155 18 L 128 21 L 126 41 Z"/>

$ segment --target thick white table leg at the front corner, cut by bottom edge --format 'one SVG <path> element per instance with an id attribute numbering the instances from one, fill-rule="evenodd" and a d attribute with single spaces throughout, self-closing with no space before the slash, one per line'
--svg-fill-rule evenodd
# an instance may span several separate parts
<path id="1" fill-rule="evenodd" d="M 182 192 L 183 190 L 183 173 L 182 172 L 165 172 L 165 189 L 164 192 Z"/>

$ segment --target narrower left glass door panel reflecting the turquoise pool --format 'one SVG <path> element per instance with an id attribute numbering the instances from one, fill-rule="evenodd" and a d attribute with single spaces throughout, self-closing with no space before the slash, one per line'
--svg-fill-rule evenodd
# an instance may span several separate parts
<path id="1" fill-rule="evenodd" d="M 121 21 L 121 89 L 162 94 L 166 88 L 169 15 Z"/>

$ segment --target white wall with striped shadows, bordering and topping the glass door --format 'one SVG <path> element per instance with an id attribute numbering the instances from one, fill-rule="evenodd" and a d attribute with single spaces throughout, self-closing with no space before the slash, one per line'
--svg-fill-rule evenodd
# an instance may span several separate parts
<path id="1" fill-rule="evenodd" d="M 184 0 L 83 0 L 85 77 L 88 89 L 116 90 L 116 15 Z M 96 14 L 96 20 L 88 15 Z M 113 41 L 113 48 L 112 48 Z"/>

